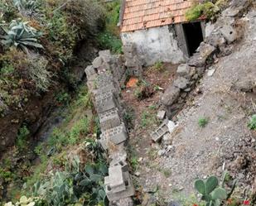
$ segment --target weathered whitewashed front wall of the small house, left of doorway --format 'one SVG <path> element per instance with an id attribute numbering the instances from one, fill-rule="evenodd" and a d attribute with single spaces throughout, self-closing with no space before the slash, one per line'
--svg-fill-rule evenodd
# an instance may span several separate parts
<path id="1" fill-rule="evenodd" d="M 123 45 L 126 42 L 133 42 L 137 46 L 138 56 L 143 65 L 153 65 L 158 60 L 173 64 L 185 61 L 185 57 L 168 26 L 124 32 L 121 34 L 121 38 Z"/>

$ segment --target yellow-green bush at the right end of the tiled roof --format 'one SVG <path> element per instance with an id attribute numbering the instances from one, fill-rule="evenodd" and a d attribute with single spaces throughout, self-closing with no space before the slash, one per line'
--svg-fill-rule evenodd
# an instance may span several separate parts
<path id="1" fill-rule="evenodd" d="M 220 12 L 220 8 L 213 2 L 198 3 L 186 11 L 186 20 L 196 21 L 202 16 L 212 19 L 218 12 Z"/>

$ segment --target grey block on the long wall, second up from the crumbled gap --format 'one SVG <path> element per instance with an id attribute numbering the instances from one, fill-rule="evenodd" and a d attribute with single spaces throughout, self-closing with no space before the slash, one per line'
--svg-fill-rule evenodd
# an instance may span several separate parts
<path id="1" fill-rule="evenodd" d="M 118 114 L 118 108 L 113 108 L 104 113 L 99 113 L 100 128 L 105 131 L 113 127 L 118 127 L 121 120 Z"/>

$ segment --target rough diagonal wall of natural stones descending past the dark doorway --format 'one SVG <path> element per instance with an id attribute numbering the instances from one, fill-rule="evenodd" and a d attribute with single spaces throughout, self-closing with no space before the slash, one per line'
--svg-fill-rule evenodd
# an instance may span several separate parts
<path id="1" fill-rule="evenodd" d="M 205 41 L 201 42 L 196 53 L 178 67 L 176 79 L 163 93 L 161 103 L 164 106 L 167 117 L 171 119 L 181 111 L 186 103 L 186 98 L 191 90 L 208 70 L 210 65 L 221 56 L 229 55 L 232 43 L 241 37 L 241 26 L 238 25 L 238 17 L 249 7 L 249 1 L 232 1 L 227 9 L 221 13 L 215 24 L 208 23 L 205 27 Z"/>

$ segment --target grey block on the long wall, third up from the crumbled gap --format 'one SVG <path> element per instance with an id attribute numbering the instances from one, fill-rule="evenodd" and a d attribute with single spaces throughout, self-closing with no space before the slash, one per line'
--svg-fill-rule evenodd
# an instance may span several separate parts
<path id="1" fill-rule="evenodd" d="M 114 93 L 104 93 L 95 96 L 95 108 L 98 113 L 104 113 L 110 109 L 117 108 L 117 100 L 114 97 Z"/>

